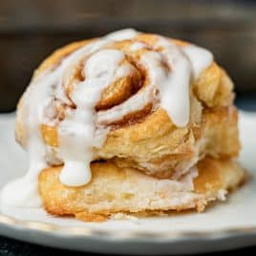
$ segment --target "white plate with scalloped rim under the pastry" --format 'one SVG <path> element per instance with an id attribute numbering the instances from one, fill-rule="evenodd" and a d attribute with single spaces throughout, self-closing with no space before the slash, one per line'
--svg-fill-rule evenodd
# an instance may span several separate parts
<path id="1" fill-rule="evenodd" d="M 26 171 L 26 154 L 16 145 L 13 115 L 0 116 L 0 188 Z M 42 209 L 0 208 L 0 234 L 11 238 L 75 250 L 177 254 L 256 245 L 256 115 L 241 113 L 241 161 L 252 178 L 225 203 L 205 212 L 168 217 L 81 223 L 56 218 Z"/>

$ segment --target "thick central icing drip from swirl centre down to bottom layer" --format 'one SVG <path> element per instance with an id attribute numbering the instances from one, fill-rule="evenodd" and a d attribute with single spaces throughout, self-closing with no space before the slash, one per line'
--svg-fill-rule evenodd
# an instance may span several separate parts
<path id="1" fill-rule="evenodd" d="M 93 147 L 101 146 L 105 140 L 104 136 L 95 136 L 96 102 L 102 90 L 116 79 L 116 73 L 126 75 L 119 66 L 123 59 L 124 53 L 120 51 L 102 50 L 85 63 L 86 79 L 75 85 L 71 96 L 76 109 L 59 127 L 59 156 L 64 160 L 59 178 L 63 184 L 79 186 L 91 181 Z"/>

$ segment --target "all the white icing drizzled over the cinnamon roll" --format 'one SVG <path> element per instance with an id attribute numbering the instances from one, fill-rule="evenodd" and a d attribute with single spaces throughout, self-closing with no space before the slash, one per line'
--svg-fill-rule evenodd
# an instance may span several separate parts
<path id="1" fill-rule="evenodd" d="M 191 79 L 210 65 L 212 54 L 191 45 L 178 47 L 163 37 L 159 37 L 156 46 L 156 50 L 162 49 L 160 52 L 148 51 L 140 59 L 140 64 L 149 75 L 149 84 L 123 103 L 96 114 L 95 106 L 102 90 L 118 78 L 132 74 L 135 69 L 131 64 L 121 63 L 124 53 L 104 48 L 113 40 L 131 39 L 137 34 L 131 29 L 110 33 L 66 56 L 53 70 L 32 80 L 23 105 L 18 110 L 26 126 L 24 130 L 30 168 L 24 178 L 12 181 L 4 188 L 1 196 L 3 201 L 17 206 L 40 205 L 37 179 L 40 171 L 47 167 L 47 148 L 41 138 L 40 125 L 44 122 L 49 124 L 46 116 L 53 116 L 51 102 L 54 98 L 62 103 L 70 103 L 63 91 L 63 79 L 66 71 L 71 70 L 73 63 L 80 57 L 86 59 L 83 70 L 85 80 L 74 85 L 70 97 L 76 108 L 69 109 L 58 126 L 58 157 L 64 162 L 59 179 L 63 184 L 79 186 L 89 182 L 94 148 L 102 146 L 109 129 L 104 125 L 138 111 L 148 103 L 153 103 L 155 107 L 160 103 L 177 126 L 187 124 L 189 84 Z M 138 42 L 130 50 L 138 51 L 142 48 L 145 45 Z"/>

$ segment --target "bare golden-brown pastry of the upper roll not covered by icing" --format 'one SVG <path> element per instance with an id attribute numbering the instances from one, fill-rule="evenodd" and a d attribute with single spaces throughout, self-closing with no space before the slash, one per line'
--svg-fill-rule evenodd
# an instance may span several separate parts
<path id="1" fill-rule="evenodd" d="M 150 49 L 155 46 L 157 38 L 155 34 L 139 33 L 132 40 L 115 42 L 109 46 L 126 53 L 124 61 L 134 67 L 134 73 L 110 84 L 97 102 L 96 111 L 110 109 L 143 89 L 148 76 L 147 71 L 139 66 L 138 59 L 147 50 L 131 52 L 129 49 L 138 41 Z M 188 45 L 180 40 L 170 40 L 181 47 Z M 54 52 L 37 69 L 33 79 L 54 69 L 65 56 L 90 42 L 92 40 L 75 42 Z M 65 75 L 67 95 L 72 92 L 76 80 L 84 79 L 81 73 L 83 61 L 84 58 L 77 60 Z M 232 107 L 232 90 L 233 84 L 228 75 L 213 62 L 191 86 L 190 121 L 187 126 L 175 126 L 163 109 L 159 107 L 152 110 L 153 106 L 147 105 L 138 113 L 131 113 L 108 124 L 110 132 L 104 145 L 95 149 L 95 160 L 114 159 L 120 167 L 135 167 L 155 177 L 170 178 L 181 172 L 181 169 L 191 167 L 204 155 L 216 158 L 237 156 L 240 146 L 236 109 Z M 23 100 L 26 100 L 25 96 L 17 109 L 16 138 L 25 144 L 28 136 L 22 118 Z M 68 107 L 72 106 L 55 106 L 58 120 L 65 117 Z M 41 125 L 42 137 L 53 155 L 57 155 L 59 144 L 57 126 L 58 123 Z M 226 132 L 227 127 L 231 133 Z"/>

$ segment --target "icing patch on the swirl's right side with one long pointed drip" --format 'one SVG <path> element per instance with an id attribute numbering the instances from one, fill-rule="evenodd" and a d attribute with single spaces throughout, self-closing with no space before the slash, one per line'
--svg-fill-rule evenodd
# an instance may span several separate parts
<path id="1" fill-rule="evenodd" d="M 144 54 L 143 65 L 148 69 L 152 86 L 157 85 L 160 91 L 160 106 L 177 126 L 184 127 L 189 121 L 191 75 L 198 77 L 212 62 L 212 55 L 195 46 L 180 48 L 163 37 L 157 47 L 163 50 Z M 165 69 L 163 60 L 167 64 Z"/>

